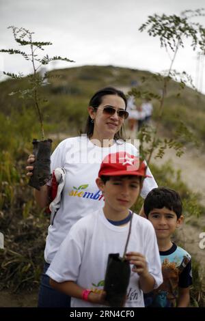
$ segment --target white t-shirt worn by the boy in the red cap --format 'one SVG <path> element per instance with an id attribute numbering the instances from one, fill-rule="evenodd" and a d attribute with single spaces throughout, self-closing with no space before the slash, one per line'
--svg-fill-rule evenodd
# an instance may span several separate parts
<path id="1" fill-rule="evenodd" d="M 109 253 L 122 257 L 129 223 L 115 226 L 105 218 L 102 209 L 79 220 L 71 229 L 55 255 L 46 274 L 57 282 L 74 281 L 94 292 L 102 290 Z M 162 283 L 161 260 L 154 228 L 150 221 L 133 214 L 129 251 L 143 254 L 148 270 L 155 279 L 154 288 Z M 132 267 L 132 266 L 131 266 Z M 72 298 L 71 307 L 100 307 Z M 139 289 L 139 275 L 131 271 L 125 307 L 144 307 L 143 292 Z"/>

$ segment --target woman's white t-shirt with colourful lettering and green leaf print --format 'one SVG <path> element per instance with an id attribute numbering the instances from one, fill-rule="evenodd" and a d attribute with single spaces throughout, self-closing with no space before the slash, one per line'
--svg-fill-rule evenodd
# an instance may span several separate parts
<path id="1" fill-rule="evenodd" d="M 102 192 L 96 185 L 100 164 L 108 154 L 121 151 L 136 156 L 138 154 L 131 143 L 118 141 L 110 148 L 99 148 L 85 135 L 61 141 L 51 155 L 51 171 L 57 167 L 64 167 L 66 178 L 61 193 L 61 206 L 53 225 L 49 226 L 46 238 L 44 257 L 47 263 L 52 262 L 70 227 L 85 215 L 104 206 Z M 152 176 L 150 169 L 147 169 L 147 174 Z M 146 197 L 154 187 L 157 187 L 157 184 L 153 176 L 146 178 L 143 181 L 141 196 Z"/>

